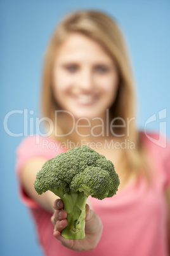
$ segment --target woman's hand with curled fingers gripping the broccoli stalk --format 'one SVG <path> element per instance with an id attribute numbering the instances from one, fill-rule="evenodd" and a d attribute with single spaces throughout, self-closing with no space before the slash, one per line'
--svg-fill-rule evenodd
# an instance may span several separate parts
<path id="1" fill-rule="evenodd" d="M 62 237 L 61 232 L 67 226 L 67 212 L 63 210 L 63 202 L 58 199 L 54 204 L 55 213 L 51 217 L 51 222 L 55 226 L 53 235 L 58 239 L 63 246 L 75 251 L 88 251 L 93 250 L 98 245 L 103 230 L 103 225 L 100 218 L 94 211 L 86 204 L 86 224 L 85 233 L 86 237 L 82 240 L 65 239 Z"/>

